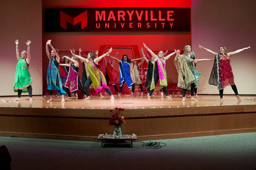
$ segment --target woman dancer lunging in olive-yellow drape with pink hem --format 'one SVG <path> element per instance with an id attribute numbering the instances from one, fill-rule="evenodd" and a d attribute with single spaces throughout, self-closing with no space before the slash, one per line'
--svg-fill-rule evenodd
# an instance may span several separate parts
<path id="1" fill-rule="evenodd" d="M 109 51 L 103 55 L 101 55 L 100 57 L 96 58 L 94 56 L 94 52 L 89 52 L 87 59 L 83 58 L 79 55 L 75 55 L 73 54 L 72 50 L 71 54 L 76 56 L 77 58 L 83 60 L 85 63 L 88 64 L 88 72 L 89 72 L 89 77 L 87 78 L 85 84 L 84 84 L 84 89 L 86 91 L 86 95 L 88 96 L 86 99 L 84 100 L 88 100 L 91 99 L 90 97 L 90 92 L 89 92 L 89 86 L 92 84 L 93 88 L 95 89 L 96 93 L 100 92 L 102 90 L 102 88 L 104 88 L 106 90 L 106 92 L 111 96 L 110 100 L 114 100 L 114 96 L 112 95 L 111 90 L 108 88 L 108 86 L 106 85 L 106 79 L 103 75 L 103 73 L 99 70 L 98 68 L 98 62 L 105 57 L 107 54 L 109 54 L 112 51 L 112 48 L 109 49 Z"/>

